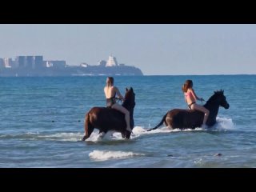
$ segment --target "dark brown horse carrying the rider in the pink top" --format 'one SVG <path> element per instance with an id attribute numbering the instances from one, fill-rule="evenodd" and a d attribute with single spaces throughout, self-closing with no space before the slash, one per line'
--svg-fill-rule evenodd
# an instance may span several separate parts
<path id="1" fill-rule="evenodd" d="M 216 123 L 216 117 L 218 114 L 219 106 L 228 109 L 230 104 L 226 102 L 226 97 L 224 95 L 224 90 L 215 91 L 214 95 L 212 95 L 209 100 L 204 105 L 206 109 L 210 111 L 210 115 L 207 119 L 207 126 L 214 126 Z M 164 122 L 167 127 L 170 129 L 185 129 L 191 128 L 194 129 L 196 127 L 202 126 L 204 114 L 198 110 L 181 110 L 174 109 L 170 110 L 165 114 L 162 118 L 162 121 L 150 130 L 155 130 Z M 148 131 L 150 131 L 148 130 Z"/>

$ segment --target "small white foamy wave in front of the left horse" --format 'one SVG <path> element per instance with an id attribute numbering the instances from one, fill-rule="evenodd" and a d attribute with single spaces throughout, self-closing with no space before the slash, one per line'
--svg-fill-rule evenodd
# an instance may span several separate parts
<path id="1" fill-rule="evenodd" d="M 145 154 L 138 154 L 134 152 L 124 151 L 110 151 L 110 150 L 94 150 L 90 152 L 89 157 L 98 161 L 106 161 L 115 158 L 131 158 L 134 156 L 144 156 Z"/>

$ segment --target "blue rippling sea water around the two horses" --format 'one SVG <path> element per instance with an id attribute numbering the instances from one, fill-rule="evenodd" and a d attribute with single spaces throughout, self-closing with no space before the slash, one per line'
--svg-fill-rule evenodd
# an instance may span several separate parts
<path id="1" fill-rule="evenodd" d="M 136 94 L 130 140 L 98 130 L 81 142 L 84 117 L 105 106 L 106 77 L 0 78 L 0 167 L 256 167 L 256 75 L 116 76 Z M 186 108 L 182 85 L 199 97 L 224 90 L 210 130 L 147 132 L 173 108 Z M 200 102 L 199 102 L 200 103 Z"/>

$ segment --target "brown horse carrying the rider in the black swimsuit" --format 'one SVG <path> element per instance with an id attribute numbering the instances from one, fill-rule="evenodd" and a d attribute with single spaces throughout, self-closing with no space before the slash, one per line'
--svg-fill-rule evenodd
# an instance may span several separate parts
<path id="1" fill-rule="evenodd" d="M 130 90 L 126 88 L 126 95 L 122 106 L 130 112 L 130 128 L 133 129 L 135 94 L 132 87 L 130 87 Z M 103 137 L 109 130 L 115 130 L 122 134 L 122 138 L 130 138 L 130 131 L 126 130 L 125 115 L 118 110 L 106 107 L 91 108 L 85 117 L 85 136 L 82 138 L 82 141 L 90 137 L 94 128 L 99 130 L 98 134 L 100 134 L 100 137 Z"/>

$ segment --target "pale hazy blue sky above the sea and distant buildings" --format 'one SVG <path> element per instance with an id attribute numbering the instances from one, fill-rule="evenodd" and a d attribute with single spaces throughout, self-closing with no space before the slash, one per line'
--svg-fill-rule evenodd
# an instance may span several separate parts
<path id="1" fill-rule="evenodd" d="M 256 25 L 0 25 L 0 58 L 97 65 L 110 54 L 146 75 L 256 74 Z"/>

